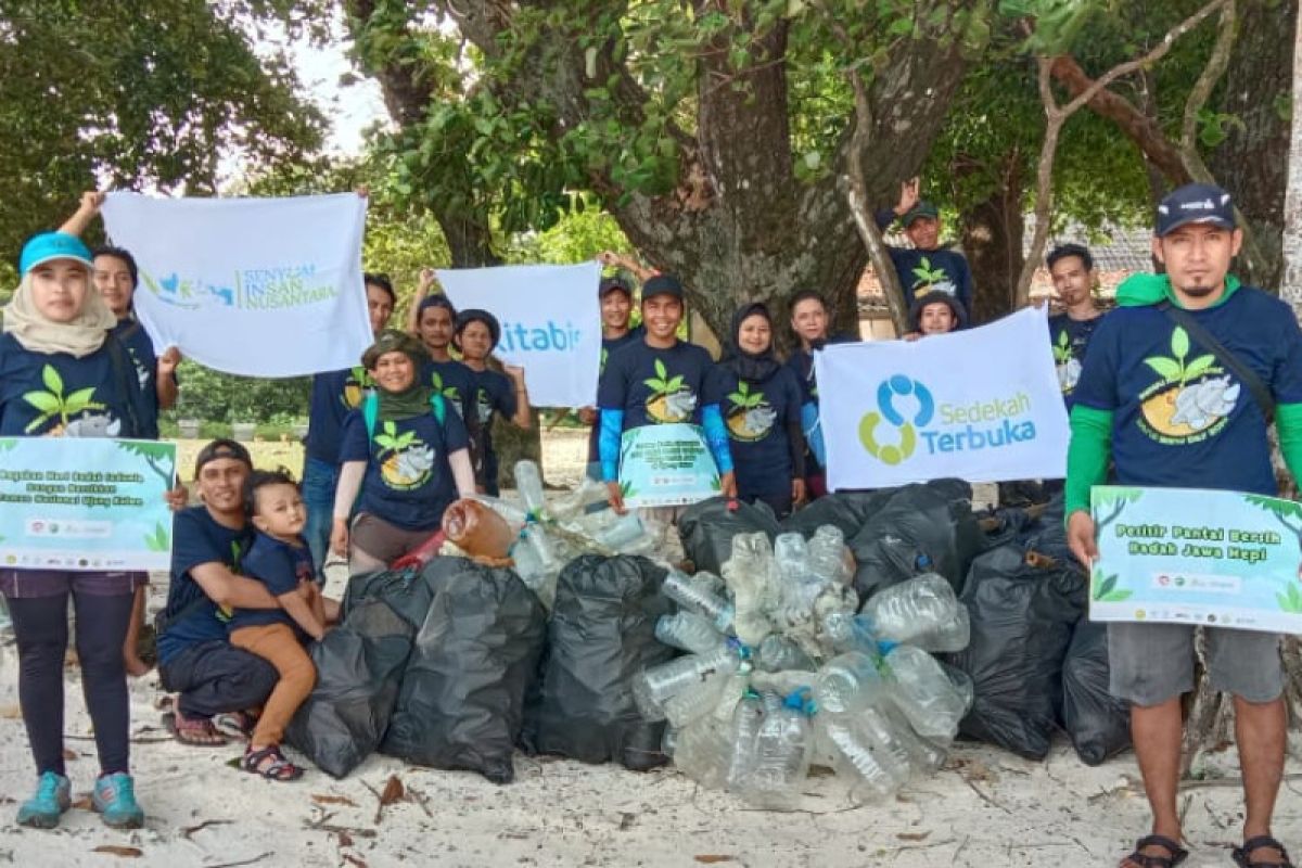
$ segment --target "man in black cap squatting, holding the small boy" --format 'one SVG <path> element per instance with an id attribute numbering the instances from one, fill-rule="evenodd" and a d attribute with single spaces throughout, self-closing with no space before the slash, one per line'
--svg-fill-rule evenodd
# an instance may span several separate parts
<path id="1" fill-rule="evenodd" d="M 172 578 L 158 638 L 163 688 L 180 694 L 172 730 L 186 744 L 224 744 L 251 730 L 279 674 L 266 660 L 227 642 L 230 609 L 275 609 L 262 582 L 237 575 L 253 530 L 245 523 L 249 450 L 214 440 L 194 462 L 201 506 L 176 515 Z M 215 720 L 216 718 L 216 720 Z"/>

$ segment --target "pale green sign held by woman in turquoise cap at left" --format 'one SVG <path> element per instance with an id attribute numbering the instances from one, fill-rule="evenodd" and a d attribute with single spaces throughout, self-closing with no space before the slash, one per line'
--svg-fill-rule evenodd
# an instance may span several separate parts
<path id="1" fill-rule="evenodd" d="M 167 570 L 176 444 L 0 437 L 0 566 Z"/>

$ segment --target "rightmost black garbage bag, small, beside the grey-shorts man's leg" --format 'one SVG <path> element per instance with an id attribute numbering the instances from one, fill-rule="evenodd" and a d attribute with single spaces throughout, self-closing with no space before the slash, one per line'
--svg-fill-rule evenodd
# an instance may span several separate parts
<path id="1" fill-rule="evenodd" d="M 1082 618 L 1062 661 L 1062 726 L 1077 756 L 1099 765 L 1130 747 L 1130 708 L 1108 692 L 1108 626 Z"/>

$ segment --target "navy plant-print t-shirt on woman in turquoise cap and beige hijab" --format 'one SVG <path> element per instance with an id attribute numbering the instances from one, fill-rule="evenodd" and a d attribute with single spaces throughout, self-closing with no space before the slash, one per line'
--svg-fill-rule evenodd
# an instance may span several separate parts
<path id="1" fill-rule="evenodd" d="M 35 353 L 0 334 L 0 435 L 143 436 L 145 400 L 130 355 L 117 338 L 108 341 L 121 353 L 118 366 L 107 341 L 77 358 Z"/>

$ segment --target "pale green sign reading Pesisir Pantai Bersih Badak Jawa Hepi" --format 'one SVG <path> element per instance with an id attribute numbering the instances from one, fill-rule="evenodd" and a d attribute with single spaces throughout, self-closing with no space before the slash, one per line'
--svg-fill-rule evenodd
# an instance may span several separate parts
<path id="1" fill-rule="evenodd" d="M 1091 621 L 1302 634 L 1302 504 L 1099 485 Z"/>

